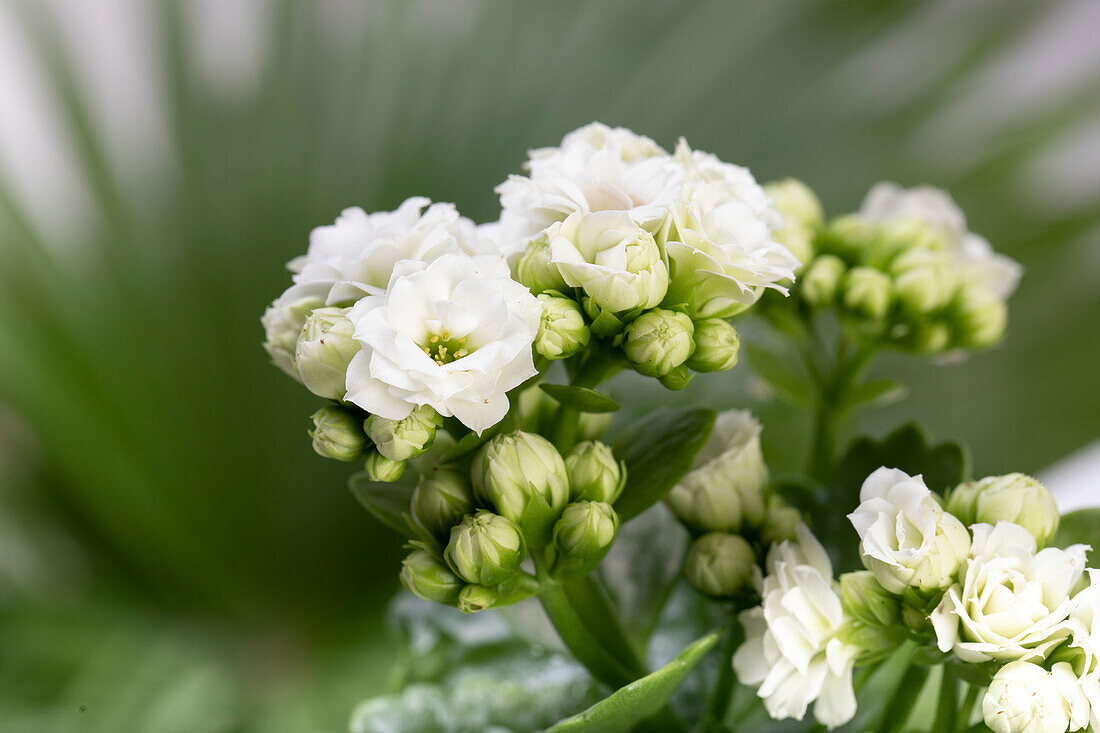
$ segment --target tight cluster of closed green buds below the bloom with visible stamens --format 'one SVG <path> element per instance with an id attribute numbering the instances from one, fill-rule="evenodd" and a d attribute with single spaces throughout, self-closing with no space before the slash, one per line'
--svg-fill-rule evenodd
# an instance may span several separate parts
<path id="1" fill-rule="evenodd" d="M 402 582 L 473 613 L 527 598 L 539 582 L 586 575 L 618 533 L 612 504 L 625 483 L 623 463 L 602 442 L 562 455 L 534 433 L 497 435 L 468 463 L 421 475 L 409 507 L 419 537 Z"/>

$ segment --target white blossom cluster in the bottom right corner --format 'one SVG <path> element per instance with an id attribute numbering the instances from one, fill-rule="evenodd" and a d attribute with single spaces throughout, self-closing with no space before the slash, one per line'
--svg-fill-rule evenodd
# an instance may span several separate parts
<path id="1" fill-rule="evenodd" d="M 801 720 L 813 703 L 835 727 L 856 712 L 853 666 L 931 632 L 956 664 L 992 666 L 981 712 L 997 733 L 1100 730 L 1100 570 L 1086 568 L 1085 545 L 1042 547 L 1052 516 L 1049 493 L 1022 474 L 963 484 L 945 502 L 922 477 L 880 468 L 849 514 L 870 571 L 859 591 L 839 591 L 860 573 L 835 582 L 801 526 L 798 543 L 769 553 L 734 668 L 773 718 Z"/>

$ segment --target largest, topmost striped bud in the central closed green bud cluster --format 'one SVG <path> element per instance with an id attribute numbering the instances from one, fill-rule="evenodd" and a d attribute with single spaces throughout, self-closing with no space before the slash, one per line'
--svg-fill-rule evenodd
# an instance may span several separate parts
<path id="1" fill-rule="evenodd" d="M 474 495 L 513 522 L 522 523 L 532 500 L 557 517 L 569 502 L 569 473 L 561 453 L 532 433 L 495 436 L 471 468 Z"/>

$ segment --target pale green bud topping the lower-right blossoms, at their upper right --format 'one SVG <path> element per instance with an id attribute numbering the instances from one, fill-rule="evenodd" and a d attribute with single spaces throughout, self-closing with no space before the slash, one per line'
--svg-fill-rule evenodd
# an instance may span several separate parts
<path id="1" fill-rule="evenodd" d="M 947 496 L 947 511 L 965 525 L 1019 524 L 1040 547 L 1058 530 L 1058 505 L 1049 490 L 1023 473 L 989 475 L 968 481 Z"/>

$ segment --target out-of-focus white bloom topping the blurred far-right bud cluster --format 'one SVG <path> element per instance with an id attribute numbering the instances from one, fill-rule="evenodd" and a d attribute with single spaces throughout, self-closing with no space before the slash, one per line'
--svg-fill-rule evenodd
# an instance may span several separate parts
<path id="1" fill-rule="evenodd" d="M 871 221 L 915 219 L 932 226 L 958 263 L 964 280 L 988 288 L 1002 300 L 1016 289 L 1023 267 L 1012 258 L 994 252 L 983 237 L 968 231 L 963 210 L 943 189 L 906 189 L 884 180 L 867 193 L 859 214 Z"/>

